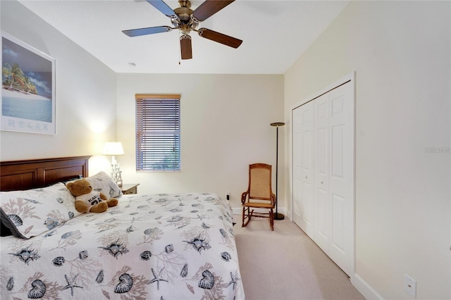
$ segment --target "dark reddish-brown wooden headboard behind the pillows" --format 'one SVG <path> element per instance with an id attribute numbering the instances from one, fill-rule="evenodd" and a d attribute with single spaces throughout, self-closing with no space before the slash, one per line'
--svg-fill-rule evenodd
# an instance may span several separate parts
<path id="1" fill-rule="evenodd" d="M 82 175 L 88 177 L 91 156 L 30 159 L 0 162 L 0 191 L 46 187 Z"/>

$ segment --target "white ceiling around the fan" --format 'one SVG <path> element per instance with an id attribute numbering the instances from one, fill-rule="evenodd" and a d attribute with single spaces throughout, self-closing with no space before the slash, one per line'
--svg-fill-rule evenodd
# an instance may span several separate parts
<path id="1" fill-rule="evenodd" d="M 199 74 L 283 74 L 349 2 L 236 0 L 198 28 L 242 39 L 241 46 L 233 49 L 191 32 L 192 59 L 181 60 L 178 30 L 140 37 L 121 32 L 171 26 L 147 1 L 19 1 L 116 73 Z M 202 2 L 192 0 L 191 8 Z"/>

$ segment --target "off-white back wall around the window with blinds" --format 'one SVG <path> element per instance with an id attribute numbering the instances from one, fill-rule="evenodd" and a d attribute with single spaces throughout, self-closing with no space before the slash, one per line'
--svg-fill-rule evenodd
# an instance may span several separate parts
<path id="1" fill-rule="evenodd" d="M 233 207 L 248 184 L 249 163 L 273 165 L 276 192 L 276 127 L 283 121 L 283 75 L 118 74 L 118 156 L 124 182 L 139 192 L 230 192 Z M 136 173 L 135 94 L 181 94 L 180 173 Z M 284 161 L 279 130 L 279 163 Z M 284 199 L 280 167 L 279 199 Z"/>

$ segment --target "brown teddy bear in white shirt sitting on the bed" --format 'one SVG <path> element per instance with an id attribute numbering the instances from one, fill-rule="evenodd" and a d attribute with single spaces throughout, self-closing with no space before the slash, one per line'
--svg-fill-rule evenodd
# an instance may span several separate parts
<path id="1" fill-rule="evenodd" d="M 118 205 L 118 199 L 108 198 L 92 189 L 85 178 L 68 182 L 67 189 L 75 196 L 75 209 L 79 213 L 103 213 L 109 207 Z"/>

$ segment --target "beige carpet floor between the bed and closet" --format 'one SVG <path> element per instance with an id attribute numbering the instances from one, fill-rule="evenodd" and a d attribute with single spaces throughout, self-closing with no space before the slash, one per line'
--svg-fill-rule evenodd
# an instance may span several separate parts
<path id="1" fill-rule="evenodd" d="M 290 220 L 233 227 L 247 300 L 364 299 L 347 275 Z"/>

